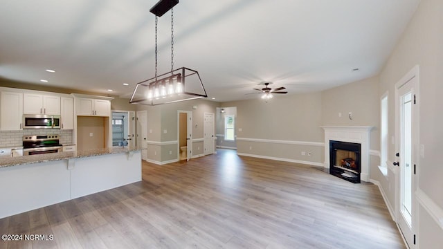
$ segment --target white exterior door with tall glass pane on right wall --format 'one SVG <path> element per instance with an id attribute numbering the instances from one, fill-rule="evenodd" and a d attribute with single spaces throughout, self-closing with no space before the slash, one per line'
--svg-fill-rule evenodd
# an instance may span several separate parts
<path id="1" fill-rule="evenodd" d="M 415 248 L 415 174 L 418 164 L 418 116 L 415 87 L 418 84 L 418 73 L 408 75 L 397 84 L 397 126 L 399 166 L 399 210 L 397 223 L 408 243 Z"/>

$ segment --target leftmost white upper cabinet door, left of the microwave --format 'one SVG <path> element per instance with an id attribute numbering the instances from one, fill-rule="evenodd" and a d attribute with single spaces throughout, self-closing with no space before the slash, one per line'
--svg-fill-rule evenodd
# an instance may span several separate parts
<path id="1" fill-rule="evenodd" d="M 22 129 L 23 93 L 1 92 L 0 129 L 2 131 L 17 131 Z"/>

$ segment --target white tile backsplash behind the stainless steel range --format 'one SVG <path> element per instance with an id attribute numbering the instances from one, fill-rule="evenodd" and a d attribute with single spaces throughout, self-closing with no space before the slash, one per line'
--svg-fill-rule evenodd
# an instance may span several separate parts
<path id="1" fill-rule="evenodd" d="M 0 148 L 3 147 L 21 147 L 23 145 L 23 136 L 26 135 L 53 135 L 60 136 L 62 145 L 72 144 L 72 130 L 61 129 L 24 129 L 21 131 L 0 131 Z"/>

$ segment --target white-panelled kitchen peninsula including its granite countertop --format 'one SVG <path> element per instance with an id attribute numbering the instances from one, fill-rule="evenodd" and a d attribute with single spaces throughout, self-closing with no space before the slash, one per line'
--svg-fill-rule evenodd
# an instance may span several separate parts
<path id="1" fill-rule="evenodd" d="M 141 181 L 141 149 L 111 147 L 0 159 L 0 219 Z"/>

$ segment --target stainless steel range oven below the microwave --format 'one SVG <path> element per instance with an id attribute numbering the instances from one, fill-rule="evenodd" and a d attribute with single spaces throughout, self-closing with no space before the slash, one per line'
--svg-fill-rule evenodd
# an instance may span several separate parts
<path id="1" fill-rule="evenodd" d="M 58 135 L 23 136 L 23 154 L 37 155 L 63 151 Z"/>

